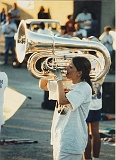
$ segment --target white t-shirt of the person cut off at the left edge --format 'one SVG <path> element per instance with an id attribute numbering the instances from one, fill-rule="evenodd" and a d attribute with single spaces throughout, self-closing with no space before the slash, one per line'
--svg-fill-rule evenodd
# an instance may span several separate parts
<path id="1" fill-rule="evenodd" d="M 0 72 L 0 125 L 4 124 L 4 117 L 3 117 L 4 91 L 7 86 L 8 86 L 8 77 L 5 72 Z"/>

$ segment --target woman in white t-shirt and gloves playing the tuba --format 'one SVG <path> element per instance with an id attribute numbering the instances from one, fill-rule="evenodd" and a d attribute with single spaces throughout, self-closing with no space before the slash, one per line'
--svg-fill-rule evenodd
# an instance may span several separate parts
<path id="1" fill-rule="evenodd" d="M 39 87 L 49 91 L 49 99 L 56 99 L 51 127 L 54 160 L 82 160 L 87 145 L 86 118 L 92 97 L 91 64 L 85 57 L 74 57 L 67 67 L 67 85 L 61 71 L 54 73 L 56 81 L 40 79 Z"/>

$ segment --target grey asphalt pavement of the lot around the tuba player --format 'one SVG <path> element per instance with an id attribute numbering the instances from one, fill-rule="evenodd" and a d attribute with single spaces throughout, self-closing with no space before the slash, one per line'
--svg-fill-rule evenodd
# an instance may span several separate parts
<path id="1" fill-rule="evenodd" d="M 26 65 L 21 68 L 13 68 L 11 64 L 1 65 L 0 70 L 7 73 L 10 87 L 30 97 L 5 122 L 0 135 L 0 139 L 19 139 L 29 143 L 0 145 L 0 160 L 52 160 L 50 128 L 53 111 L 41 107 L 44 91 L 38 87 L 39 80 L 32 77 Z M 114 82 L 115 76 L 108 74 L 105 81 Z M 100 130 L 106 128 L 114 129 L 115 120 L 101 121 Z M 100 160 L 115 160 L 115 143 L 102 140 Z"/>

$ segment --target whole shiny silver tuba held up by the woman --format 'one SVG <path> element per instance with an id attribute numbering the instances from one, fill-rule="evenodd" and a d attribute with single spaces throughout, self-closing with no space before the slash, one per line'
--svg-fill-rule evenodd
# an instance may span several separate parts
<path id="1" fill-rule="evenodd" d="M 95 52 L 97 57 L 90 52 Z M 16 54 L 20 63 L 24 61 L 26 55 L 29 55 L 27 69 L 38 79 L 42 77 L 53 79 L 54 74 L 51 71 L 56 68 L 60 68 L 66 77 L 66 67 L 75 56 L 84 56 L 90 60 L 94 66 L 90 73 L 92 81 L 104 77 L 111 64 L 107 48 L 99 41 L 38 34 L 27 29 L 24 20 L 21 20 L 18 27 Z"/>

